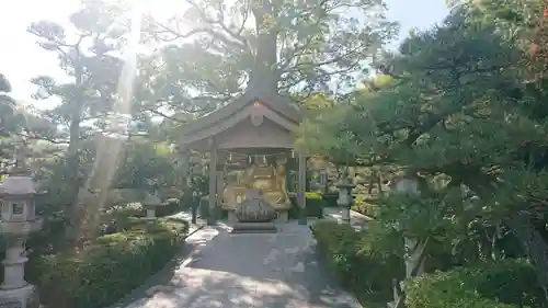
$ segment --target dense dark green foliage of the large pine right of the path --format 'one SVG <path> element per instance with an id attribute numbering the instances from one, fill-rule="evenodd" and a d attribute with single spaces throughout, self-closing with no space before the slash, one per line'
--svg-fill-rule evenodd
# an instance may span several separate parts
<path id="1" fill-rule="evenodd" d="M 299 145 L 429 183 L 420 197 L 380 198 L 374 214 L 398 244 L 427 243 L 427 271 L 526 254 L 547 287 L 548 83 L 524 53 L 545 31 L 532 31 L 541 1 L 464 2 L 375 64 L 390 77 L 381 87 L 310 115 Z"/>

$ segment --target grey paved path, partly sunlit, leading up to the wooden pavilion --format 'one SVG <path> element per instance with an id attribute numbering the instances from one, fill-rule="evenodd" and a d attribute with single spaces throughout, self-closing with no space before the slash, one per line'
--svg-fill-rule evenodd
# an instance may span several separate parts
<path id="1" fill-rule="evenodd" d="M 187 238 L 195 251 L 175 269 L 170 288 L 126 308 L 361 308 L 318 266 L 307 226 L 278 233 L 232 235 L 205 227 Z"/>

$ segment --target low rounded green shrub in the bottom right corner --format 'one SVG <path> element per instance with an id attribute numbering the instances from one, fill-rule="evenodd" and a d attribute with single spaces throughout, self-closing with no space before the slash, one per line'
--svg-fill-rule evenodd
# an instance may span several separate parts
<path id="1" fill-rule="evenodd" d="M 523 260 L 504 260 L 434 272 L 406 284 L 409 308 L 543 307 L 535 270 Z"/>

